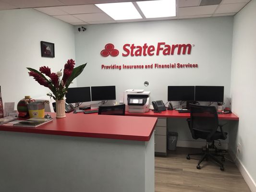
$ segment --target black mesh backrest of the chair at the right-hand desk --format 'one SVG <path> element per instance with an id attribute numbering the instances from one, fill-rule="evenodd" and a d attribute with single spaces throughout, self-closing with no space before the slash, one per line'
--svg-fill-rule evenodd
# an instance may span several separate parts
<path id="1" fill-rule="evenodd" d="M 219 126 L 217 110 L 214 106 L 190 104 L 190 132 L 194 139 L 207 139 L 211 142 L 212 135 Z"/>

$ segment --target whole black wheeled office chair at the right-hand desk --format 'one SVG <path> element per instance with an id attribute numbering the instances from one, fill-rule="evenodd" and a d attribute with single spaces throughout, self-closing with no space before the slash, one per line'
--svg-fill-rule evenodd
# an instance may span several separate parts
<path id="1" fill-rule="evenodd" d="M 227 132 L 222 131 L 222 126 L 219 124 L 218 114 L 214 106 L 199 106 L 190 104 L 190 119 L 187 119 L 190 132 L 194 139 L 206 139 L 207 145 L 206 150 L 203 153 L 188 154 L 187 159 L 190 159 L 191 155 L 202 156 L 198 161 L 196 166 L 197 169 L 200 169 L 200 163 L 203 160 L 208 160 L 208 157 L 211 157 L 215 162 L 220 166 L 220 170 L 224 171 L 224 166 L 221 161 L 225 161 L 225 156 L 218 153 L 210 153 L 208 143 L 214 142 L 214 140 L 227 138 Z M 220 131 L 217 131 L 218 127 Z M 216 156 L 221 157 L 221 161 L 216 158 Z"/>

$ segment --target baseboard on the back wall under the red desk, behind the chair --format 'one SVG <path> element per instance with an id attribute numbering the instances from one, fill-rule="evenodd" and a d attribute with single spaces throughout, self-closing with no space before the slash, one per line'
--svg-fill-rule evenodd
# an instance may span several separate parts
<path id="1" fill-rule="evenodd" d="M 202 141 L 185 141 L 185 140 L 178 140 L 177 146 L 178 147 L 191 147 L 191 148 L 202 148 L 202 146 L 205 146 L 206 142 Z M 227 143 L 221 143 L 221 146 L 218 145 L 216 142 L 215 145 L 218 149 L 228 149 Z"/>

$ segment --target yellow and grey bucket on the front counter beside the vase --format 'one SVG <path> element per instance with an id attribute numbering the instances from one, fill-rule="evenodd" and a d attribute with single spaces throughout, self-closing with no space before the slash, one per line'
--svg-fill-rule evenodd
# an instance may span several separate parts
<path id="1" fill-rule="evenodd" d="M 27 105 L 29 117 L 38 117 L 43 118 L 45 116 L 45 102 L 44 101 L 35 101 Z"/>

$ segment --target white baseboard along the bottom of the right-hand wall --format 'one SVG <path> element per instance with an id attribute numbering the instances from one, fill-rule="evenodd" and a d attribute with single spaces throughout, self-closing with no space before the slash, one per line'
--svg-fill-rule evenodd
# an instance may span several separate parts
<path id="1" fill-rule="evenodd" d="M 232 157 L 232 160 L 235 159 L 235 154 L 233 151 L 229 151 L 230 156 Z M 248 173 L 247 169 L 244 167 L 243 163 L 240 161 L 239 158 L 236 158 L 235 164 L 237 168 L 239 169 L 240 173 L 244 177 L 245 182 L 247 183 L 248 187 L 250 188 L 251 192 L 256 192 L 256 183 L 252 179 L 251 175 Z"/>

